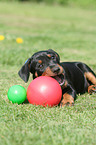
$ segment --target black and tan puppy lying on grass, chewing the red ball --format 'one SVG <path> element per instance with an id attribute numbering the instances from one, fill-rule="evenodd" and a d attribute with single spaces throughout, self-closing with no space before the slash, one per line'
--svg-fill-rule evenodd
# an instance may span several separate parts
<path id="1" fill-rule="evenodd" d="M 19 76 L 27 82 L 30 73 L 33 79 L 39 76 L 51 76 L 55 78 L 63 92 L 61 107 L 73 105 L 76 94 L 96 92 L 96 75 L 84 63 L 60 62 L 59 55 L 53 50 L 39 51 L 22 66 Z"/>

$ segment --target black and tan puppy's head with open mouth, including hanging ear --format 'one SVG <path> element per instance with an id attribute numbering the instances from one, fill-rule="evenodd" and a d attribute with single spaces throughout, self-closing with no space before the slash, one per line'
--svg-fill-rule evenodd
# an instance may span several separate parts
<path id="1" fill-rule="evenodd" d="M 18 74 L 25 82 L 28 81 L 30 73 L 33 74 L 33 79 L 39 76 L 51 76 L 62 86 L 64 84 L 63 71 L 59 55 L 53 50 L 46 50 L 33 54 Z"/>

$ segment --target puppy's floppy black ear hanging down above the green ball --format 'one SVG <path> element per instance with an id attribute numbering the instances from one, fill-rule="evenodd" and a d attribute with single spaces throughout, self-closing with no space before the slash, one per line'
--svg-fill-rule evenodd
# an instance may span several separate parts
<path id="1" fill-rule="evenodd" d="M 30 76 L 30 63 L 31 59 L 29 58 L 18 72 L 21 79 L 24 80 L 26 83 L 28 82 Z"/>

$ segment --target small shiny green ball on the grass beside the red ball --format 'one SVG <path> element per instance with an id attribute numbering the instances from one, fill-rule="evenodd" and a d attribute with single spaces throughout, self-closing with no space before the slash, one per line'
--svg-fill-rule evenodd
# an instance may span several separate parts
<path id="1" fill-rule="evenodd" d="M 25 101 L 27 95 L 24 87 L 20 85 L 14 85 L 8 90 L 7 96 L 12 103 L 21 104 Z"/>

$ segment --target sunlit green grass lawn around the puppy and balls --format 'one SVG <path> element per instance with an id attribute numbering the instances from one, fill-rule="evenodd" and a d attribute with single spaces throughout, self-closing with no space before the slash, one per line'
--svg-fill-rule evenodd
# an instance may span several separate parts
<path id="1" fill-rule="evenodd" d="M 96 73 L 96 11 L 0 2 L 0 143 L 2 145 L 95 145 L 96 95 L 79 96 L 73 107 L 12 104 L 7 91 L 26 89 L 17 72 L 34 52 L 54 49 L 61 61 L 83 61 Z M 22 44 L 16 38 L 23 38 Z"/>

